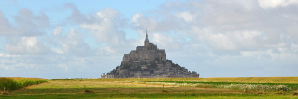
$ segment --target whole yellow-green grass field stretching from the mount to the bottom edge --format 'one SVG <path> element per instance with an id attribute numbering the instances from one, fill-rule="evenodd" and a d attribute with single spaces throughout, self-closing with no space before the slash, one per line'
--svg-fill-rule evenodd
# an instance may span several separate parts
<path id="1" fill-rule="evenodd" d="M 259 79 L 262 81 L 258 81 Z M 297 90 L 244 92 L 243 89 L 167 85 L 167 83 L 260 84 L 295 87 L 298 85 L 297 79 L 298 77 L 53 79 L 38 85 L 11 90 L 8 95 L 1 95 L 0 99 L 298 99 Z M 164 89 L 162 85 L 165 85 Z M 85 91 L 84 86 L 86 86 Z"/>

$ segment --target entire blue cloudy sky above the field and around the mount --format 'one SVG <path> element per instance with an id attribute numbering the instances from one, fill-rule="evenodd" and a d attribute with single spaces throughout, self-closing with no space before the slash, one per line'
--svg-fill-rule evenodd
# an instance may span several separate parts
<path id="1" fill-rule="evenodd" d="M 298 76 L 298 0 L 0 0 L 0 77 L 100 78 L 146 28 L 203 78 Z"/>

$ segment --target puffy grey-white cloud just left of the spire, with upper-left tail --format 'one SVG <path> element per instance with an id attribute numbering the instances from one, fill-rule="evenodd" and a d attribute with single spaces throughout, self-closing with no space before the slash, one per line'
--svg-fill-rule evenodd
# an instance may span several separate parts
<path id="1" fill-rule="evenodd" d="M 69 19 L 73 20 L 81 28 L 88 30 L 92 38 L 94 38 L 100 48 L 94 49 L 96 53 L 100 54 L 117 54 L 128 52 L 129 48 L 136 46 L 136 40 L 126 40 L 126 33 L 122 28 L 128 26 L 128 19 L 116 9 L 103 8 L 95 14 L 81 14 L 73 4 L 73 13 Z M 80 21 L 76 19 L 80 18 Z M 104 49 L 106 48 L 106 49 Z"/>

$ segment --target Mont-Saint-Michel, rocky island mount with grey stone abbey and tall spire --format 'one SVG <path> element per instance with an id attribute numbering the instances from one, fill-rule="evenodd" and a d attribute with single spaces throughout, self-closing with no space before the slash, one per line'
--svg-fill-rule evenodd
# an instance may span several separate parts
<path id="1" fill-rule="evenodd" d="M 195 71 L 166 59 L 164 49 L 149 42 L 146 30 L 144 46 L 137 46 L 128 54 L 124 54 L 121 65 L 111 72 L 101 75 L 101 78 L 176 78 L 199 77 Z"/>

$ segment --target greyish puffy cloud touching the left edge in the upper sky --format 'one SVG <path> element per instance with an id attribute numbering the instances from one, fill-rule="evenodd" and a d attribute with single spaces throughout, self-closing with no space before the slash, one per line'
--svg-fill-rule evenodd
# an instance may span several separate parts
<path id="1" fill-rule="evenodd" d="M 21 9 L 13 16 L 15 25 L 12 25 L 0 11 L 0 35 L 1 36 L 41 36 L 44 29 L 49 26 L 49 18 L 44 13 L 35 16 L 29 9 Z"/>

